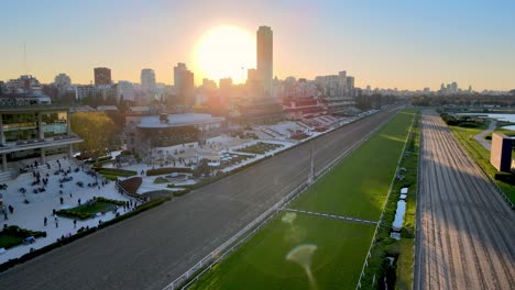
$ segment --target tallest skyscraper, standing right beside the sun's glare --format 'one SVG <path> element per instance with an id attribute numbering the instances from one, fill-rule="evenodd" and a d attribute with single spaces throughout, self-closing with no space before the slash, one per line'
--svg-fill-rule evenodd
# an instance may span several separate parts
<path id="1" fill-rule="evenodd" d="M 270 26 L 260 26 L 258 30 L 258 71 L 265 96 L 272 92 L 273 70 L 273 32 Z"/>

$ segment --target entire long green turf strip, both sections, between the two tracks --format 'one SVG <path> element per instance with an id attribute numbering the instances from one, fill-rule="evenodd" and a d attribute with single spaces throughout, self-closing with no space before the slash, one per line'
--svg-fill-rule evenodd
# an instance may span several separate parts
<path id="1" fill-rule="evenodd" d="M 403 111 L 292 204 L 377 220 L 415 113 Z M 293 220 L 283 221 L 285 215 Z M 191 289 L 355 289 L 375 225 L 283 212 Z M 315 245 L 313 282 L 288 253 Z"/>

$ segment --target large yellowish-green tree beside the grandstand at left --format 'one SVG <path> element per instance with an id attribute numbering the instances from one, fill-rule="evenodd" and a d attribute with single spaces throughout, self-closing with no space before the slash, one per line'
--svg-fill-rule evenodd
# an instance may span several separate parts
<path id="1" fill-rule="evenodd" d="M 114 130 L 114 122 L 103 112 L 76 112 L 72 115 L 72 131 L 84 140 L 77 144 L 83 156 L 98 158 L 105 155 Z"/>

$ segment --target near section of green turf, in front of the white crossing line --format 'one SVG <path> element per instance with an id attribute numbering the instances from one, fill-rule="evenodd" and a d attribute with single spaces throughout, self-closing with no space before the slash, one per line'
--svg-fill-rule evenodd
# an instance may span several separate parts
<path id="1" fill-rule="evenodd" d="M 354 289 L 374 228 L 284 212 L 191 289 Z M 307 255 L 313 246 L 315 288 L 306 270 L 286 258 L 294 249 Z"/>

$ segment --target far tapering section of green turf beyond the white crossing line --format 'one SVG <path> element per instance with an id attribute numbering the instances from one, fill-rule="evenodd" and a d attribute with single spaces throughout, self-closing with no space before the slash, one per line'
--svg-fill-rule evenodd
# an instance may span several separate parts
<path id="1" fill-rule="evenodd" d="M 292 208 L 379 220 L 415 113 L 403 111 Z"/>

